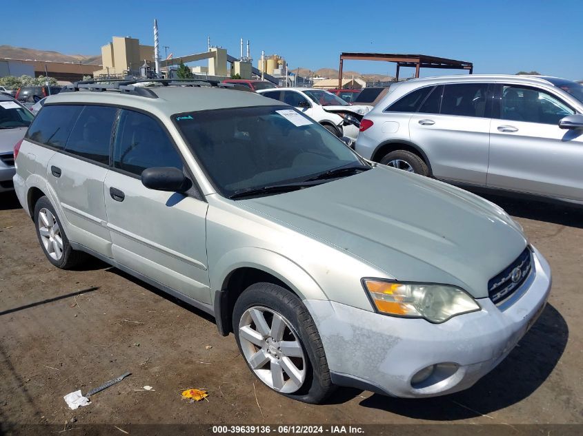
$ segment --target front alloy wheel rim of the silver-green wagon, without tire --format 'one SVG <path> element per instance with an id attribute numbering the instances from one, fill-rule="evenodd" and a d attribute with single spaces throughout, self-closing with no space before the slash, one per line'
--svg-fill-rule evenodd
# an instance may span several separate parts
<path id="1" fill-rule="evenodd" d="M 294 393 L 306 380 L 306 356 L 291 324 L 281 313 L 261 306 L 239 321 L 239 342 L 250 368 L 267 386 Z"/>

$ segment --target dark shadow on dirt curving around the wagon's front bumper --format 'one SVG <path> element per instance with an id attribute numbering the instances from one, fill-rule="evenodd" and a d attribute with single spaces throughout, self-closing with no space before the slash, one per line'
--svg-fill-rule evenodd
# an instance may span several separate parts
<path id="1" fill-rule="evenodd" d="M 444 397 L 402 399 L 374 394 L 360 402 L 415 419 L 454 421 L 487 415 L 527 398 L 551 375 L 569 338 L 569 328 L 551 304 L 517 347 L 474 386 Z"/>

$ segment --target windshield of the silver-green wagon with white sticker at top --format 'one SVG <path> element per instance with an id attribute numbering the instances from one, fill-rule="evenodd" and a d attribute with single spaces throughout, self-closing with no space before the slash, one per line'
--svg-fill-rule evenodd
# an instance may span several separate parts
<path id="1" fill-rule="evenodd" d="M 368 169 L 336 136 L 289 106 L 189 112 L 172 118 L 210 180 L 226 197 L 307 182 L 340 167 Z M 324 177 L 317 183 L 329 180 Z"/>

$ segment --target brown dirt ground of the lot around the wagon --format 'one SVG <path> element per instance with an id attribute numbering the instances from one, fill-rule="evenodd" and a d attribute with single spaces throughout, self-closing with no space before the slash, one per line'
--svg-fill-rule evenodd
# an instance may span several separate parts
<path id="1" fill-rule="evenodd" d="M 342 389 L 328 404 L 311 406 L 255 380 L 233 335 L 221 337 L 212 317 L 97 260 L 79 271 L 52 267 L 16 198 L 0 195 L 0 427 L 62 427 L 73 417 L 120 427 L 583 424 L 583 211 L 489 199 L 517 217 L 553 269 L 550 304 L 519 346 L 462 393 L 406 400 Z M 63 401 L 126 371 L 132 375 L 88 407 L 70 411 Z M 144 385 L 155 391 L 139 391 Z M 188 403 L 185 388 L 206 388 L 208 401 Z"/>

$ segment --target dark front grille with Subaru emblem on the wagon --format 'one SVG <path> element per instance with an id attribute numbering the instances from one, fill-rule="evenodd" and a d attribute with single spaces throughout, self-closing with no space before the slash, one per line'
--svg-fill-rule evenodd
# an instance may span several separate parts
<path id="1" fill-rule="evenodd" d="M 526 247 L 514 262 L 488 281 L 490 300 L 498 304 L 515 293 L 531 272 L 532 262 L 531 250 Z"/>

